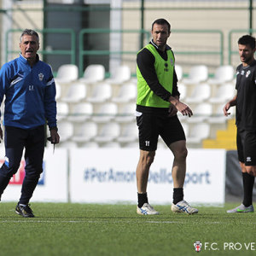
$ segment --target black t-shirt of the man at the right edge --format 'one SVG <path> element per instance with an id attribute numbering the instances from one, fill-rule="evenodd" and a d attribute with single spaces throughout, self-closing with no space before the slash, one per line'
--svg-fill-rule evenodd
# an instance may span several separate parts
<path id="1" fill-rule="evenodd" d="M 256 130 L 256 61 L 236 68 L 236 125 L 243 130 Z"/>

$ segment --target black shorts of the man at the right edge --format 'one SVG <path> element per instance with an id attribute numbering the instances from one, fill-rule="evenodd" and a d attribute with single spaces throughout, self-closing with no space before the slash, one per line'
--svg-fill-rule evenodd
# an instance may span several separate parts
<path id="1" fill-rule="evenodd" d="M 246 166 L 256 166 L 256 131 L 237 129 L 236 146 L 238 160 Z"/>

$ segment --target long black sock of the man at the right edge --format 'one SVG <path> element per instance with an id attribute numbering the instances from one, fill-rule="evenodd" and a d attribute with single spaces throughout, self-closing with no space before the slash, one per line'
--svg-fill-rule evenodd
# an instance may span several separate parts
<path id="1" fill-rule="evenodd" d="M 245 207 L 249 207 L 253 204 L 253 185 L 255 177 L 247 172 L 242 172 L 243 183 L 243 201 L 242 204 Z"/>

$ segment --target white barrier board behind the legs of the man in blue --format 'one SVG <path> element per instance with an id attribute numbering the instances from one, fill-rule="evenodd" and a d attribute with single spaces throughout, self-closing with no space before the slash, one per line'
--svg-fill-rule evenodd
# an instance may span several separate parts
<path id="1" fill-rule="evenodd" d="M 1 160 L 1 166 L 3 163 Z M 2 201 L 19 201 L 20 190 L 25 176 L 25 161 L 21 160 L 19 171 L 11 178 L 4 190 Z M 50 148 L 44 152 L 44 172 L 38 182 L 31 201 L 67 202 L 67 149 L 56 148 L 55 153 Z"/>

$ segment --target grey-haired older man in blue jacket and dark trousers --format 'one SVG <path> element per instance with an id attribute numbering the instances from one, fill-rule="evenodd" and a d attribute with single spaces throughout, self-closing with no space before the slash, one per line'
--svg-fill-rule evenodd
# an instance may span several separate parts
<path id="1" fill-rule="evenodd" d="M 0 70 L 0 102 L 5 96 L 3 116 L 5 160 L 0 168 L 0 197 L 18 171 L 25 148 L 26 176 L 15 212 L 34 217 L 29 201 L 43 172 L 44 125 L 51 142 L 59 143 L 56 125 L 55 81 L 51 67 L 38 57 L 38 33 L 26 29 L 20 36 L 20 57 Z M 0 128 L 0 137 L 3 131 Z"/>

